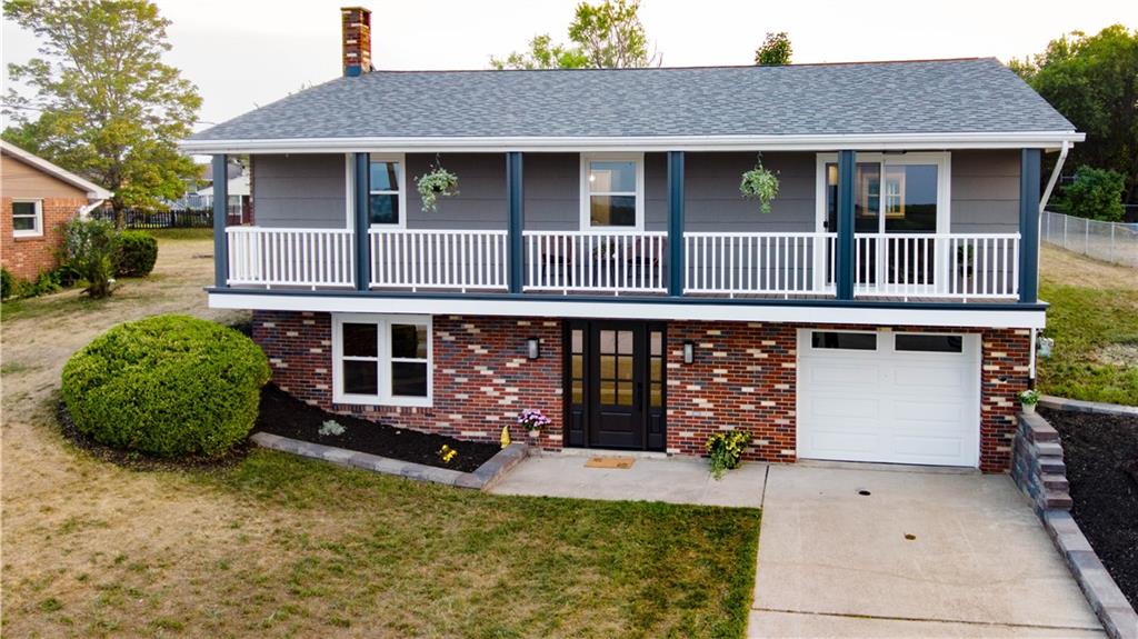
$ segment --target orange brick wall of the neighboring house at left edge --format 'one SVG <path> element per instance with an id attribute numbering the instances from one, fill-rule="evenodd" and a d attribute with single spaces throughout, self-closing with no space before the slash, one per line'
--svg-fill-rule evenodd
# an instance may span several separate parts
<path id="1" fill-rule="evenodd" d="M 63 225 L 75 217 L 86 199 L 46 198 L 43 200 L 43 234 L 34 238 L 16 238 L 11 227 L 13 198 L 0 200 L 3 215 L 0 216 L 0 255 L 3 267 L 20 280 L 34 280 L 44 271 L 59 265 L 56 252 L 63 243 Z"/>

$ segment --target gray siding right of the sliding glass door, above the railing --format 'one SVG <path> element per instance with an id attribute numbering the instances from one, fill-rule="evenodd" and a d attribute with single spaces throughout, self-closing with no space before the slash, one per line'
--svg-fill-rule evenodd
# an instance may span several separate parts
<path id="1" fill-rule="evenodd" d="M 1020 230 L 1020 152 L 953 152 L 953 233 Z"/>

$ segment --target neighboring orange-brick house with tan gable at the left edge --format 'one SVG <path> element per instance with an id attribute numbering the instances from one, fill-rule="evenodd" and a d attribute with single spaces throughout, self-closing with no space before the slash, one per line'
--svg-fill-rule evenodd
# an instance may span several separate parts
<path id="1" fill-rule="evenodd" d="M 20 280 L 56 268 L 63 225 L 110 197 L 98 184 L 0 140 L 0 264 Z"/>

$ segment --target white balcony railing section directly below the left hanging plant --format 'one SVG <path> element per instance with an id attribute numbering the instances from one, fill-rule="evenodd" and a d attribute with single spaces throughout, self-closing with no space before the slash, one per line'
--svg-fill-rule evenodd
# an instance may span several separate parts
<path id="1" fill-rule="evenodd" d="M 506 231 L 370 229 L 371 285 L 384 289 L 505 290 Z"/>

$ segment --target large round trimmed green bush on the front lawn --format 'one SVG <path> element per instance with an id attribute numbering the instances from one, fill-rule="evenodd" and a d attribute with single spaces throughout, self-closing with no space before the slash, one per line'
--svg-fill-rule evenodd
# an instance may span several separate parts
<path id="1" fill-rule="evenodd" d="M 269 360 L 241 333 L 184 315 L 121 324 L 64 366 L 75 426 L 159 457 L 228 453 L 257 418 Z"/>

